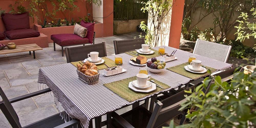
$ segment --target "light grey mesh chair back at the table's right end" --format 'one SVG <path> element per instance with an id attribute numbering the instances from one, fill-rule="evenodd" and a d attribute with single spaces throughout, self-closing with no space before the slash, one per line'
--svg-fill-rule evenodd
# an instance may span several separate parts
<path id="1" fill-rule="evenodd" d="M 226 63 L 231 47 L 232 46 L 197 39 L 193 53 Z"/>

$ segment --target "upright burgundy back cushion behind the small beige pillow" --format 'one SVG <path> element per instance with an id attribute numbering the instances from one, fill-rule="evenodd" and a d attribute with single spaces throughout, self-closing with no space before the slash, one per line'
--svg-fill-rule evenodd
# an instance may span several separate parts
<path id="1" fill-rule="evenodd" d="M 90 23 L 90 22 L 85 22 L 85 21 L 81 21 L 81 26 L 87 28 L 87 35 L 86 38 L 89 39 L 89 43 L 92 44 L 93 42 L 93 33 L 94 33 L 94 24 L 95 23 Z"/>

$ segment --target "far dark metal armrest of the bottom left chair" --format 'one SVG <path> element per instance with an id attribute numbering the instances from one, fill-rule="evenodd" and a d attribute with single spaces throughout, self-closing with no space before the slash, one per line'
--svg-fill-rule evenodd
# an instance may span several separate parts
<path id="1" fill-rule="evenodd" d="M 29 93 L 29 94 L 26 94 L 26 95 L 22 95 L 22 96 L 19 96 L 19 97 L 9 99 L 9 101 L 10 101 L 10 103 L 14 103 L 14 102 L 25 100 L 25 99 L 28 99 L 30 97 L 34 97 L 34 96 L 44 94 L 44 93 L 50 92 L 50 91 L 51 91 L 51 89 L 47 88 L 47 89 L 43 89 L 43 90 L 40 90 L 40 91 L 32 92 L 32 93 Z"/>

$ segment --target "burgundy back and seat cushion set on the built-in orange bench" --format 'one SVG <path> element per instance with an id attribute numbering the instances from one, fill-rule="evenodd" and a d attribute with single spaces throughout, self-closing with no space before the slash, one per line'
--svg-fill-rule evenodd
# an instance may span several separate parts
<path id="1" fill-rule="evenodd" d="M 28 13 L 2 14 L 5 31 L 4 34 L 10 40 L 38 37 L 40 33 L 30 29 Z"/>

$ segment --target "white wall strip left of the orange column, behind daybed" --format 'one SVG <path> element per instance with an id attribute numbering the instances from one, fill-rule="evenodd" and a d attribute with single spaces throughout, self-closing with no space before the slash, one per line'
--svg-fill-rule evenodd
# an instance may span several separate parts
<path id="1" fill-rule="evenodd" d="M 92 14 L 93 17 L 103 17 L 103 0 L 98 4 L 92 4 Z M 94 21 L 103 23 L 103 18 L 93 18 Z"/>

